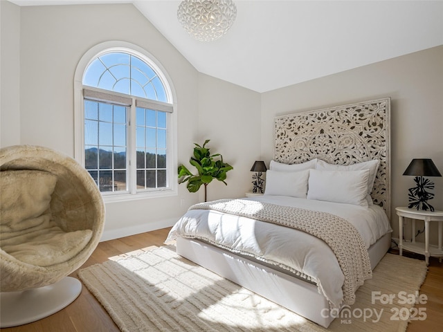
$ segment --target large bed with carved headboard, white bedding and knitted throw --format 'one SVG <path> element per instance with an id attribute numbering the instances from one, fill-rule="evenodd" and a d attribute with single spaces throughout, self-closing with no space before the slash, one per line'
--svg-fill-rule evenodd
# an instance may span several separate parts
<path id="1" fill-rule="evenodd" d="M 274 119 L 263 196 L 193 205 L 177 253 L 327 328 L 390 248 L 390 98 Z"/>

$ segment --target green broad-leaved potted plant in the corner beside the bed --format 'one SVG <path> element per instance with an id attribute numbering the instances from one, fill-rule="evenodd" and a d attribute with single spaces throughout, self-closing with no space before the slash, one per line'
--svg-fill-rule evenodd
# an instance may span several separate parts
<path id="1" fill-rule="evenodd" d="M 197 192 L 201 185 L 205 188 L 205 202 L 207 199 L 206 187 L 214 179 L 223 182 L 225 185 L 228 183 L 226 180 L 226 173 L 233 169 L 228 163 L 224 163 L 223 156 L 221 154 L 210 154 L 209 148 L 206 147 L 210 140 L 205 140 L 204 145 L 200 146 L 194 143 L 194 154 L 190 158 L 189 163 L 197 169 L 197 174 L 194 175 L 184 165 L 179 166 L 179 183 L 188 182 L 186 187 L 189 192 Z"/>

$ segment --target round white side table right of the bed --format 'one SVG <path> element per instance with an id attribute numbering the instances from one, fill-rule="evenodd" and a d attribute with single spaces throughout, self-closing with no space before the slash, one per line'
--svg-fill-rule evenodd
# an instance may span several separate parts
<path id="1" fill-rule="evenodd" d="M 417 254 L 424 255 L 426 265 L 429 264 L 429 257 L 439 257 L 442 261 L 442 233 L 443 233 L 443 211 L 423 211 L 413 210 L 409 208 L 395 208 L 399 216 L 399 250 L 400 256 L 403 254 L 403 249 Z M 403 243 L 403 218 L 412 219 L 412 241 L 410 243 Z M 424 246 L 423 243 L 415 242 L 415 220 L 424 220 Z M 438 223 L 438 246 L 429 246 L 429 228 L 431 221 Z"/>

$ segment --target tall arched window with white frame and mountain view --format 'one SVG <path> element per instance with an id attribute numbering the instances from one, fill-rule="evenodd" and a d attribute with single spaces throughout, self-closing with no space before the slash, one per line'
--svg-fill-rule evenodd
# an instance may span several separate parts
<path id="1" fill-rule="evenodd" d="M 152 59 L 102 50 L 84 68 L 80 92 L 80 159 L 105 199 L 173 190 L 172 93 Z"/>

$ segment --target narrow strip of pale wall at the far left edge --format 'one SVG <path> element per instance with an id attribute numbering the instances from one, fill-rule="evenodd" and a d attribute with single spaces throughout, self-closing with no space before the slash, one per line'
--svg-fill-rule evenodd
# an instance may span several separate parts
<path id="1" fill-rule="evenodd" d="M 0 147 L 20 144 L 20 8 L 0 1 Z"/>

